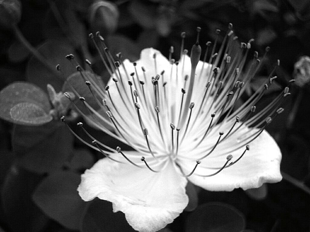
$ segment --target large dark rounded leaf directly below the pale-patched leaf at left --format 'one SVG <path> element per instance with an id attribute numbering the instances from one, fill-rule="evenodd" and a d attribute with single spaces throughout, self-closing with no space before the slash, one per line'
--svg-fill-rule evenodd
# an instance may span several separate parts
<path id="1" fill-rule="evenodd" d="M 73 135 L 61 122 L 39 127 L 16 125 L 12 138 L 19 165 L 37 173 L 59 170 L 73 150 Z"/>

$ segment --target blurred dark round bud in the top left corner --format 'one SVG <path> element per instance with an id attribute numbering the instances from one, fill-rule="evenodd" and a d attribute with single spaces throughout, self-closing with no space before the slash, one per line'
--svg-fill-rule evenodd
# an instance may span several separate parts
<path id="1" fill-rule="evenodd" d="M 19 0 L 0 0 L 0 25 L 11 28 L 19 23 L 21 3 Z"/>

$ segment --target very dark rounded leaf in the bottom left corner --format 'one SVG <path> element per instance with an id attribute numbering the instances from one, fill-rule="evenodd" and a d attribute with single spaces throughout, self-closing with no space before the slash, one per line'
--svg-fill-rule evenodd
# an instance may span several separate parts
<path id="1" fill-rule="evenodd" d="M 38 232 L 47 224 L 48 218 L 33 203 L 33 189 L 41 176 L 12 165 L 2 183 L 1 200 L 5 222 L 13 232 Z"/>

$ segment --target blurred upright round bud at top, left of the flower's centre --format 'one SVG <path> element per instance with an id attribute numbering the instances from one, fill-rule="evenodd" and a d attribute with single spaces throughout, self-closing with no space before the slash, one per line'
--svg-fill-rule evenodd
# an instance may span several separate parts
<path id="1" fill-rule="evenodd" d="M 116 31 L 119 18 L 117 6 L 109 1 L 95 1 L 89 8 L 89 23 L 104 36 Z"/>

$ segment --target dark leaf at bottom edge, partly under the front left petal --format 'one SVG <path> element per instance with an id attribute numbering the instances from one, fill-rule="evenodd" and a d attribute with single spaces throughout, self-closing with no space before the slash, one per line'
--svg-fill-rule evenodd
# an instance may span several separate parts
<path id="1" fill-rule="evenodd" d="M 125 215 L 113 213 L 112 203 L 96 198 L 88 207 L 81 224 L 82 232 L 134 232 Z"/>

